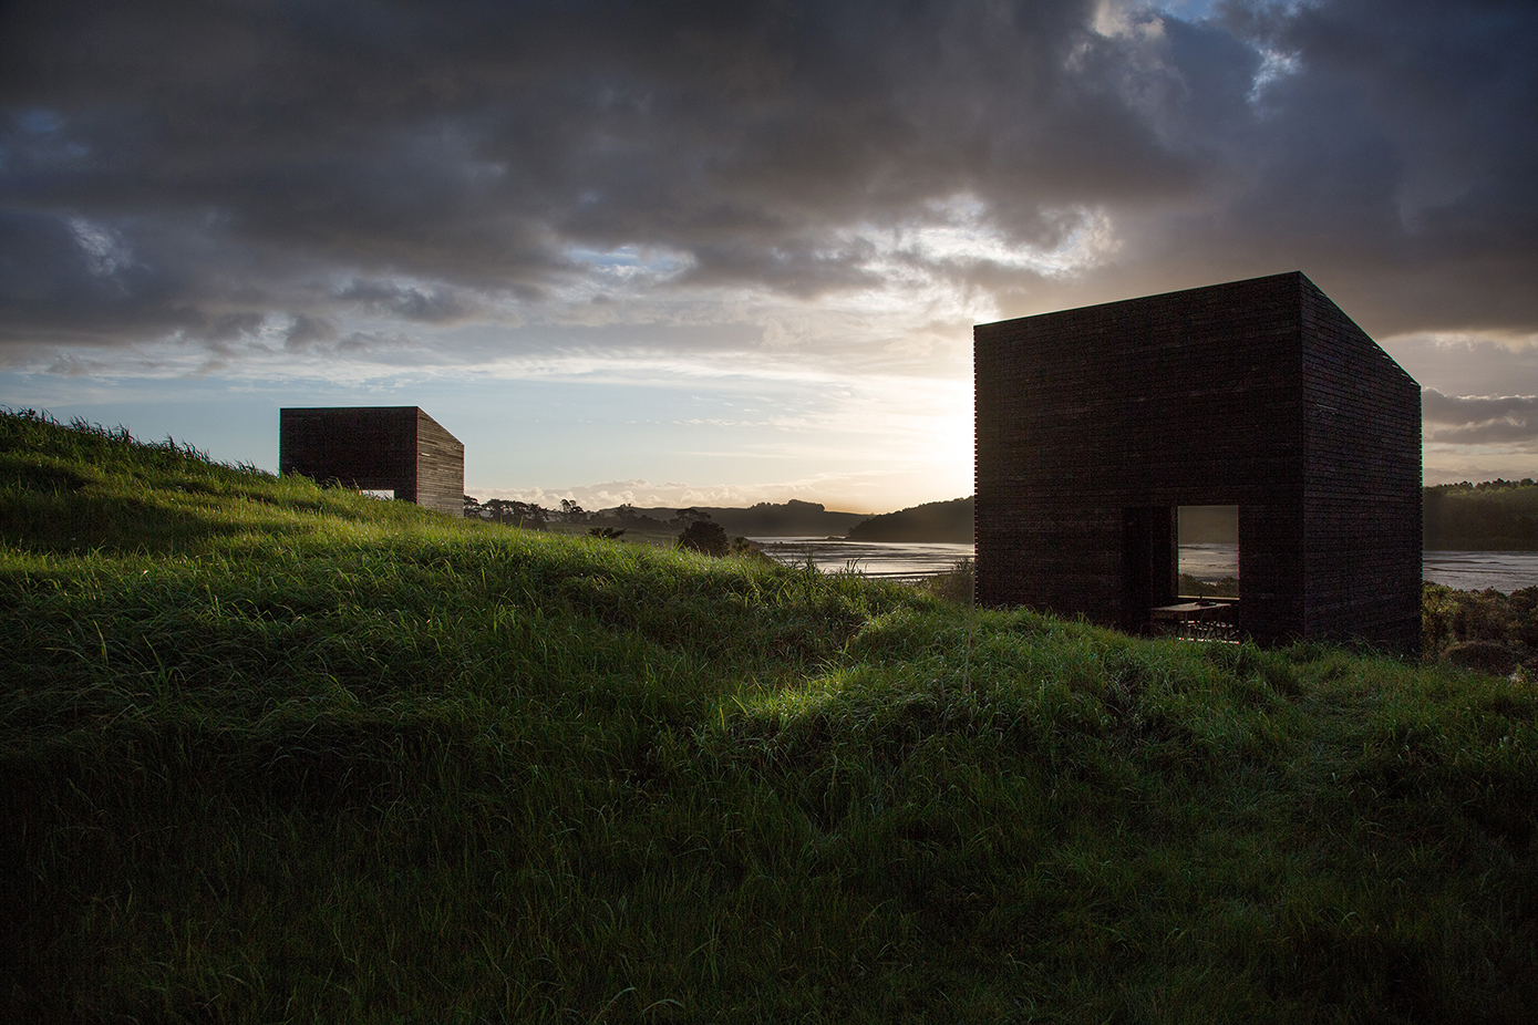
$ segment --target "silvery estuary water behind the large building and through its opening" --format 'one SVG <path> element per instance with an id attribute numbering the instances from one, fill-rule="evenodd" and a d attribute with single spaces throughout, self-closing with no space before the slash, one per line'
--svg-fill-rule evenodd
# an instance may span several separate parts
<path id="1" fill-rule="evenodd" d="M 886 579 L 918 579 L 955 569 L 972 558 L 970 544 L 903 544 L 897 541 L 847 541 L 844 538 L 754 538 L 771 558 L 804 566 L 807 559 L 824 573 L 852 572 Z M 1183 544 L 1180 572 L 1197 579 L 1238 576 L 1237 544 Z M 1538 585 L 1538 552 L 1426 552 L 1421 576 L 1460 590 L 1510 593 Z"/>

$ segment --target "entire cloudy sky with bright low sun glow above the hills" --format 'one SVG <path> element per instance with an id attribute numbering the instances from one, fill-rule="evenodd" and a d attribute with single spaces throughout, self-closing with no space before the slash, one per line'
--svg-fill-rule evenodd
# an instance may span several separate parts
<path id="1" fill-rule="evenodd" d="M 972 326 L 1301 270 L 1538 476 L 1530 0 L 0 5 L 0 406 L 481 499 L 972 492 Z"/>

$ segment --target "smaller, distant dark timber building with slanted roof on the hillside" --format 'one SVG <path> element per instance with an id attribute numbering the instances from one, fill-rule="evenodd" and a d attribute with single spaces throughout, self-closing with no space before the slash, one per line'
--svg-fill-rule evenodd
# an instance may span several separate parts
<path id="1" fill-rule="evenodd" d="M 415 406 L 285 409 L 278 473 L 303 473 L 454 516 L 464 512 L 464 446 Z"/>

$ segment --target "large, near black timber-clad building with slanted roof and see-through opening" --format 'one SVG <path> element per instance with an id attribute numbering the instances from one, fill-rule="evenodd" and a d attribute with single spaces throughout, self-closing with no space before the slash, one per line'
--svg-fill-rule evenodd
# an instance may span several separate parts
<path id="1" fill-rule="evenodd" d="M 977 596 L 1140 630 L 1238 506 L 1241 632 L 1418 650 L 1421 392 L 1301 274 L 978 324 Z"/>

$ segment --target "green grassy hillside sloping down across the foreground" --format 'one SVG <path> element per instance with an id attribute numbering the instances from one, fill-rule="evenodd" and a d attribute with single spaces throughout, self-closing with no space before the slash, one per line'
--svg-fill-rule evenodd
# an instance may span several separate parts
<path id="1" fill-rule="evenodd" d="M 1526 1022 L 1538 695 L 0 416 L 0 1020 Z"/>

